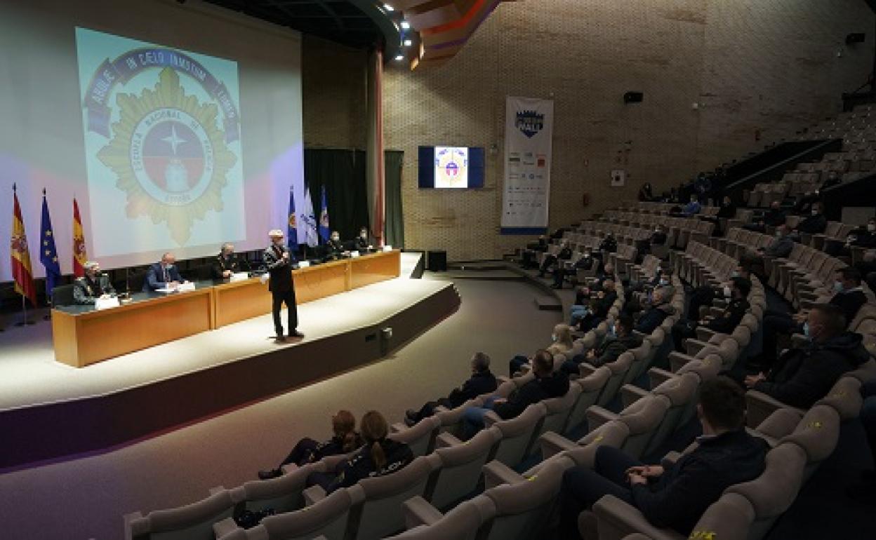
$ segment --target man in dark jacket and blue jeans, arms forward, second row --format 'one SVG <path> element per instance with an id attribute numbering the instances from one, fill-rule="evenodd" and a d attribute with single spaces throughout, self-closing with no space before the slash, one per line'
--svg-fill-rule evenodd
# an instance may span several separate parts
<path id="1" fill-rule="evenodd" d="M 493 410 L 498 417 L 508 420 L 517 417 L 526 407 L 551 397 L 565 396 L 569 391 L 569 375 L 562 369 L 554 371 L 554 355 L 539 349 L 533 355 L 532 381 L 512 391 L 507 398 L 490 396 L 482 407 L 463 411 L 463 438 L 468 440 L 484 427 L 484 415 Z"/>

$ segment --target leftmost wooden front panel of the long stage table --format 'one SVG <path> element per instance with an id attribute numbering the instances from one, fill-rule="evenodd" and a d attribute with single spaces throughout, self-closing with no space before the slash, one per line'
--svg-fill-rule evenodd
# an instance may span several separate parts
<path id="1" fill-rule="evenodd" d="M 60 331 L 53 335 L 55 358 L 81 368 L 205 332 L 211 326 L 211 294 L 208 288 L 75 316 L 55 312 L 53 331 Z"/>

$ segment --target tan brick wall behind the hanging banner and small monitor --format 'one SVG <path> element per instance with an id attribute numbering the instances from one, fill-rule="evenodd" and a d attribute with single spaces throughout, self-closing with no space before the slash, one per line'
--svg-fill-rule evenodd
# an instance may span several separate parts
<path id="1" fill-rule="evenodd" d="M 459 261 L 525 242 L 498 234 L 506 95 L 555 100 L 554 228 L 836 114 L 872 67 L 873 23 L 861 0 L 500 4 L 444 66 L 387 65 L 385 141 L 405 151 L 406 247 Z M 844 46 L 849 32 L 868 43 Z M 312 38 L 303 54 L 305 144 L 364 148 L 365 54 Z M 645 101 L 624 105 L 627 90 Z M 484 146 L 484 189 L 418 189 L 420 144 Z M 628 172 L 624 188 L 608 186 L 613 168 Z"/>

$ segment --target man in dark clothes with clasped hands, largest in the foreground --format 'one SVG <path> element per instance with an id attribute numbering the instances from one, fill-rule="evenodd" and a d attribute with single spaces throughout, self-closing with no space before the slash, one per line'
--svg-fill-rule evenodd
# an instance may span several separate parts
<path id="1" fill-rule="evenodd" d="M 654 527 L 687 537 L 724 489 L 764 472 L 769 445 L 745 432 L 745 394 L 736 382 L 724 376 L 703 381 L 696 416 L 703 435 L 672 466 L 646 465 L 602 445 L 592 469 L 576 466 L 563 473 L 558 537 L 578 538 L 578 515 L 604 495 L 639 509 Z"/>

